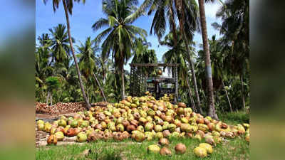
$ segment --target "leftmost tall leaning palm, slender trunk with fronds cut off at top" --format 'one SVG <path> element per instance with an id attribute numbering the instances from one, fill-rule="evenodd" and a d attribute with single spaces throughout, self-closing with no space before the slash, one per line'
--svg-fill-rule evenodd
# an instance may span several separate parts
<path id="1" fill-rule="evenodd" d="M 48 0 L 43 0 L 43 3 L 46 4 L 46 1 L 48 1 Z M 73 60 L 74 60 L 74 63 L 76 65 L 76 70 L 77 70 L 78 79 L 79 79 L 79 85 L 81 87 L 81 92 L 82 92 L 82 95 L 83 95 L 83 99 L 84 99 L 84 101 L 86 103 L 86 107 L 88 109 L 90 109 L 91 105 L 90 105 L 90 102 L 88 102 L 87 97 L 86 97 L 86 92 L 85 92 L 84 87 L 83 87 L 83 82 L 82 82 L 82 79 L 81 79 L 81 73 L 80 73 L 80 70 L 79 70 L 79 67 L 78 67 L 77 58 L 76 58 L 76 55 L 74 53 L 73 42 L 72 42 L 72 38 L 71 38 L 71 25 L 69 23 L 69 14 L 72 14 L 73 1 L 77 1 L 78 3 L 80 1 L 83 1 L 83 4 L 85 4 L 85 0 L 53 0 L 53 11 L 56 11 L 56 9 L 58 9 L 58 6 L 61 3 L 61 1 L 63 2 L 63 8 L 64 8 L 64 12 L 66 14 L 66 24 L 67 24 L 67 30 L 68 30 L 68 41 L 70 43 L 71 53 L 73 55 Z"/>

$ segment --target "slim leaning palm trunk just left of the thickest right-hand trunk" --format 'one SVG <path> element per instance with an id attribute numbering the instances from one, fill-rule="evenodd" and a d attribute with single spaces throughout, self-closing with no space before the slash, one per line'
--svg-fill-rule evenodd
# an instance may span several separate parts
<path id="1" fill-rule="evenodd" d="M 199 92 L 198 92 L 198 87 L 197 87 L 196 75 L 195 75 L 195 71 L 194 71 L 194 64 L 193 64 L 192 59 L 191 59 L 189 43 L 188 43 L 188 40 L 187 40 L 187 37 L 186 37 L 186 34 L 185 34 L 185 30 L 184 30 L 184 27 L 183 27 L 184 21 L 185 21 L 184 6 L 182 4 L 182 1 L 180 1 L 180 2 L 175 1 L 175 6 L 177 8 L 177 11 L 182 13 L 182 17 L 180 16 L 180 18 L 179 18 L 180 32 L 182 33 L 182 37 L 183 37 L 183 41 L 185 42 L 187 53 L 189 53 L 189 63 L 190 63 L 190 68 L 191 68 L 191 73 L 192 73 L 192 81 L 194 83 L 195 95 L 196 95 L 196 98 L 197 98 L 197 106 L 199 107 L 199 112 L 201 114 L 203 114 L 203 111 L 202 111 L 202 108 L 201 108 L 201 104 L 200 104 L 200 99 L 199 99 Z"/>

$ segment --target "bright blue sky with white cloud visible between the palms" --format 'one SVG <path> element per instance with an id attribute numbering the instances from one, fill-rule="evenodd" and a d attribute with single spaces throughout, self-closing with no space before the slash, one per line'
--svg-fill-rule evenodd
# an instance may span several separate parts
<path id="1" fill-rule="evenodd" d="M 143 0 L 139 0 L 140 3 Z M 212 28 L 211 23 L 221 21 L 215 18 L 215 14 L 221 4 L 206 4 L 206 16 L 207 16 L 207 31 L 209 38 L 216 34 L 219 36 L 219 32 Z M 102 3 L 101 0 L 86 0 L 86 4 L 76 3 L 73 6 L 73 15 L 70 16 L 71 21 L 71 35 L 76 38 L 76 44 L 78 41 L 84 42 L 86 37 L 91 36 L 95 38 L 100 31 L 94 32 L 91 28 L 93 23 L 99 18 L 105 17 L 102 13 Z M 168 48 L 165 46 L 159 46 L 157 37 L 150 35 L 150 25 L 152 22 L 152 16 L 141 16 L 133 24 L 147 31 L 147 41 L 152 43 L 151 49 L 155 49 L 158 60 L 161 60 L 163 53 L 165 53 Z M 46 5 L 43 4 L 42 0 L 36 1 L 36 38 L 42 33 L 49 33 L 48 28 L 53 28 L 57 26 L 58 23 L 66 23 L 66 17 L 63 10 L 63 5 L 60 4 L 58 10 L 54 13 L 52 0 L 49 0 Z M 202 35 L 196 33 L 194 41 L 197 44 L 197 50 L 199 49 L 199 44 L 202 43 Z M 130 59 L 131 60 L 131 59 Z M 130 60 L 128 63 L 130 63 Z M 129 65 L 125 65 L 126 70 L 130 70 Z"/>

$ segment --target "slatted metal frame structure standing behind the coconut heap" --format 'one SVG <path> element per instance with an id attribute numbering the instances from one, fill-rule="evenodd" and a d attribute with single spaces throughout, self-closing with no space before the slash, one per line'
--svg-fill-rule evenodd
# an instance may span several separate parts
<path id="1" fill-rule="evenodd" d="M 170 77 L 148 77 L 143 73 L 142 68 L 170 68 L 172 70 Z M 154 88 L 149 87 L 152 82 L 158 82 L 160 85 L 171 86 L 170 88 L 162 87 L 160 97 L 165 93 L 175 94 L 175 102 L 178 98 L 178 75 L 177 68 L 179 64 L 170 63 L 130 63 L 130 95 L 142 96 L 146 91 L 155 92 Z"/>

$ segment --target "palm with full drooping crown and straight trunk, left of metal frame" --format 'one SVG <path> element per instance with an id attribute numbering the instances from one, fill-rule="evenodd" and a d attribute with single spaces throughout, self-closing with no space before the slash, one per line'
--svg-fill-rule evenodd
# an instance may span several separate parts
<path id="1" fill-rule="evenodd" d="M 122 99 L 125 99 L 124 64 L 132 55 L 133 43 L 137 36 L 147 36 L 144 29 L 133 26 L 132 21 L 127 18 L 135 11 L 136 4 L 138 0 L 103 0 L 103 13 L 108 18 L 100 18 L 92 26 L 94 31 L 108 27 L 95 38 L 95 41 L 100 43 L 106 37 L 102 43 L 102 56 L 109 57 L 111 54 L 115 59 L 115 67 L 121 74 Z"/>

